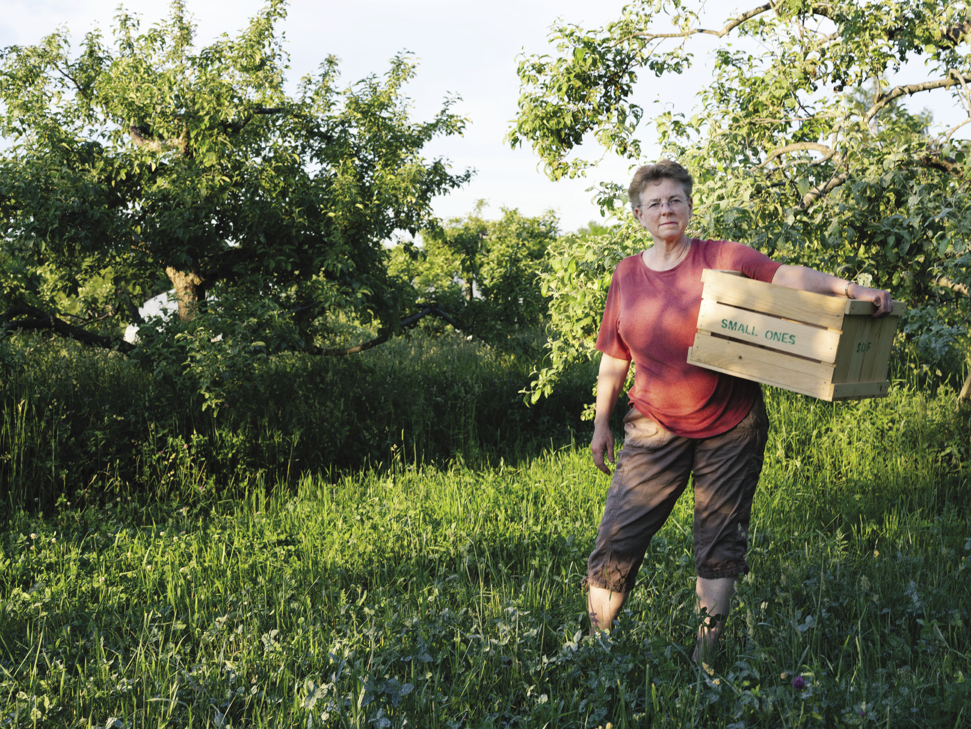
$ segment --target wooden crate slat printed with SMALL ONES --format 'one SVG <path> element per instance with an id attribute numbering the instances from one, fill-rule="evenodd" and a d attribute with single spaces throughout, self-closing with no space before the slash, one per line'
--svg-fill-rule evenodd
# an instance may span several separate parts
<path id="1" fill-rule="evenodd" d="M 698 329 L 820 362 L 836 362 L 840 332 L 702 299 Z"/>

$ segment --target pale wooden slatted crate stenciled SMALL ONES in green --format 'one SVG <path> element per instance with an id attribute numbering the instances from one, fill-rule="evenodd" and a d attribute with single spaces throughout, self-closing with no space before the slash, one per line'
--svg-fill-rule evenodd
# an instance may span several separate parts
<path id="1" fill-rule="evenodd" d="M 705 269 L 701 311 L 687 361 L 814 398 L 887 396 L 897 319 L 843 296 L 811 294 Z"/>

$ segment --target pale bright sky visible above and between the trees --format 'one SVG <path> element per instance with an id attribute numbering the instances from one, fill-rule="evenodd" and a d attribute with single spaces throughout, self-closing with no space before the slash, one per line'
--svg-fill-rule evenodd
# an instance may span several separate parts
<path id="1" fill-rule="evenodd" d="M 737 15 L 748 5 L 718 6 L 711 25 Z M 356 0 L 356 2 L 312 2 L 294 0 L 283 23 L 286 50 L 290 54 L 290 81 L 314 72 L 328 54 L 341 58 L 342 79 L 351 83 L 370 74 L 382 74 L 387 59 L 410 51 L 419 59 L 419 72 L 408 94 L 417 119 L 429 119 L 447 94 L 458 94 L 455 110 L 467 117 L 463 137 L 437 140 L 427 148 L 429 156 L 446 156 L 454 170 L 474 168 L 475 177 L 462 190 L 438 198 L 435 212 L 448 219 L 470 212 L 479 199 L 488 201 L 487 217 L 498 217 L 501 207 L 519 208 L 525 215 L 547 209 L 557 211 L 563 230 L 575 230 L 589 221 L 601 222 L 599 210 L 586 191 L 593 182 L 610 180 L 624 185 L 629 179 L 628 162 L 607 156 L 586 179 L 549 181 L 538 167 L 538 158 L 528 148 L 512 150 L 503 142 L 510 121 L 517 112 L 519 79 L 516 75 L 520 52 L 550 52 L 547 36 L 557 17 L 586 27 L 600 26 L 619 17 L 623 3 L 616 0 Z M 3 0 L 0 17 L 0 47 L 34 44 L 54 28 L 66 26 L 75 43 L 92 28 L 110 31 L 117 12 L 117 0 Z M 129 0 L 129 12 L 142 17 L 143 27 L 167 15 L 164 2 Z M 186 0 L 197 22 L 196 41 L 206 44 L 219 34 L 235 35 L 262 7 L 257 0 Z M 727 9 L 728 12 L 725 11 Z M 735 12 L 732 12 L 735 11 Z M 725 16 L 721 16 L 725 13 Z M 658 81 L 645 74 L 636 89 L 635 100 L 646 107 L 646 116 L 669 105 L 689 113 L 694 95 L 710 78 L 707 51 L 715 41 L 695 37 L 694 67 L 681 77 Z M 926 79 L 921 66 L 904 69 L 907 82 Z M 894 81 L 894 79 L 891 79 Z M 914 110 L 929 106 L 935 120 L 954 123 L 964 113 L 951 107 L 944 94 L 921 94 L 910 102 Z M 649 129 L 643 130 L 645 161 L 658 156 Z M 971 131 L 971 124 L 962 132 Z M 965 134 L 966 135 L 966 134 Z M 958 134 L 957 136 L 962 136 Z M 599 156 L 587 150 L 588 156 Z"/>

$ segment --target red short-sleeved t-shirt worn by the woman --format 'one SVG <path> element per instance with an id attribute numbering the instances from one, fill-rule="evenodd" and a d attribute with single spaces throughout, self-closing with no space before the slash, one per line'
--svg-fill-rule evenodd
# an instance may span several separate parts
<path id="1" fill-rule="evenodd" d="M 687 364 L 701 308 L 704 268 L 741 271 L 771 282 L 782 263 L 726 240 L 692 238 L 684 260 L 653 271 L 640 254 L 621 260 L 611 279 L 597 349 L 633 360 L 628 399 L 674 434 L 703 438 L 731 430 L 749 413 L 758 385 Z"/>

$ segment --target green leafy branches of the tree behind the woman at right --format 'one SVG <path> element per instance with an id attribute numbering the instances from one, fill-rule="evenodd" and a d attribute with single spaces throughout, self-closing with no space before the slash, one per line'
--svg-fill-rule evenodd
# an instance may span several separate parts
<path id="1" fill-rule="evenodd" d="M 558 23 L 554 56 L 519 64 L 522 93 L 509 141 L 532 145 L 552 179 L 590 167 L 574 155 L 587 134 L 639 159 L 643 110 L 632 100 L 633 84 L 644 70 L 674 80 L 693 62 L 692 36 L 702 32 L 721 40 L 698 107 L 653 119 L 664 154 L 695 176 L 689 232 L 886 288 L 923 312 L 913 320 L 920 330 L 912 330 L 926 352 L 945 353 L 966 331 L 967 297 L 938 282 L 958 290 L 971 283 L 971 143 L 954 137 L 963 124 L 932 134 L 929 115 L 900 102 L 921 91 L 948 94 L 971 120 L 968 4 L 791 0 L 702 30 L 689 3 L 640 0 L 601 29 Z M 918 57 L 923 78 L 887 85 L 887 73 Z M 605 210 L 626 203 L 617 184 L 602 184 L 599 193 Z M 612 235 L 601 245 L 616 246 L 619 258 L 628 239 Z M 586 261 L 587 242 L 561 255 Z M 566 273 L 545 283 L 554 298 L 570 296 L 572 273 L 558 270 Z M 594 281 L 602 281 L 599 273 L 587 283 Z M 582 320 L 593 309 L 577 307 L 573 316 Z M 588 328 L 577 321 L 554 327 L 562 342 L 554 344 L 553 370 L 562 357 L 586 351 Z M 534 392 L 552 381 L 541 379 Z"/>

